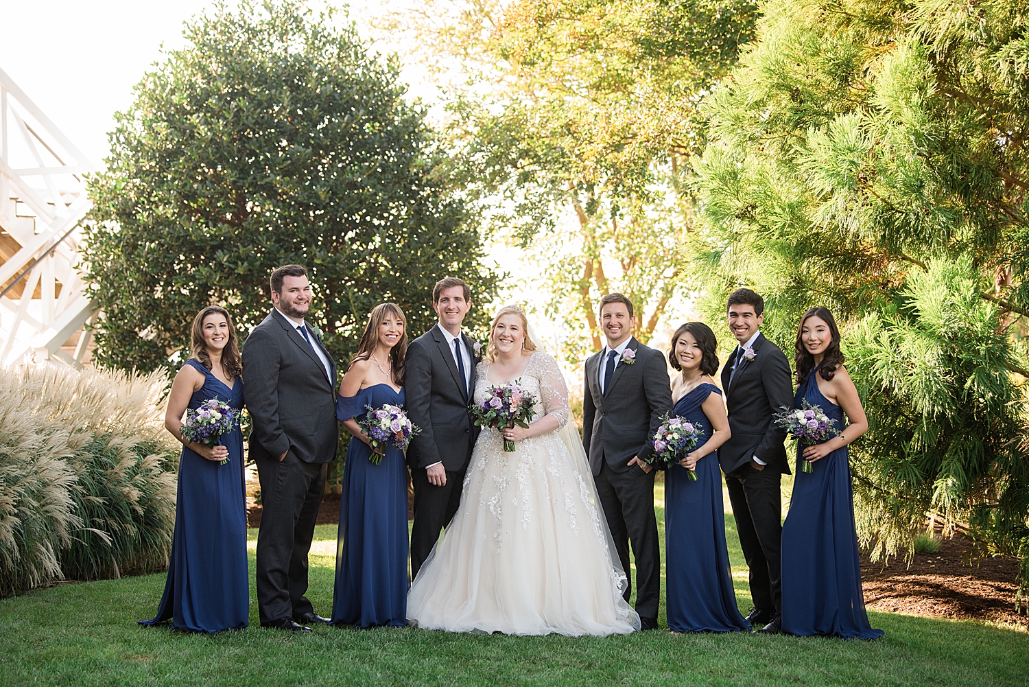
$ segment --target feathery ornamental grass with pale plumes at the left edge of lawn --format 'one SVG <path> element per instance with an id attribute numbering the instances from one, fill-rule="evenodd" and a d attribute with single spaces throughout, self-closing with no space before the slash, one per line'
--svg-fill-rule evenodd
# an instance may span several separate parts
<path id="1" fill-rule="evenodd" d="M 165 373 L 0 370 L 0 594 L 159 570 L 175 523 Z"/>

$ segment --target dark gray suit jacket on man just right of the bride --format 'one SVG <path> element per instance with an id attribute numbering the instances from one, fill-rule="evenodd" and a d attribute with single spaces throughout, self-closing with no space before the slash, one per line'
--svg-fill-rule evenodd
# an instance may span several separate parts
<path id="1" fill-rule="evenodd" d="M 661 416 L 672 409 L 672 385 L 665 355 L 644 346 L 633 337 L 627 349 L 636 362 L 618 363 L 605 393 L 600 392 L 603 350 L 586 362 L 586 389 L 582 397 L 582 448 L 590 456 L 594 476 L 606 460 L 612 472 L 639 470 L 628 465 L 634 455 L 641 459 L 653 452 L 650 438 L 661 426 Z"/>

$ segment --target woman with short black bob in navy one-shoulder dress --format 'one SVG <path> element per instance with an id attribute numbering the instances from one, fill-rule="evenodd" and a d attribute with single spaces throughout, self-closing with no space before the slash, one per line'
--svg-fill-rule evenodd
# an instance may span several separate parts
<path id="1" fill-rule="evenodd" d="M 716 451 L 730 430 L 721 390 L 711 377 L 718 370 L 717 347 L 711 328 L 686 322 L 672 336 L 668 354 L 682 373 L 672 381 L 672 416 L 702 428 L 694 450 L 665 473 L 666 613 L 675 633 L 750 628 L 736 606 L 725 546 Z"/>

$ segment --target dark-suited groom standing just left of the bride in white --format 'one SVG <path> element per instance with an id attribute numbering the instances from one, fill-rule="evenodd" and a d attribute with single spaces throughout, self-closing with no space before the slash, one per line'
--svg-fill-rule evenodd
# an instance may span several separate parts
<path id="1" fill-rule="evenodd" d="M 461 485 L 478 427 L 468 414 L 478 357 L 461 322 L 471 308 L 471 290 L 456 277 L 432 288 L 439 321 L 407 346 L 404 388 L 411 421 L 422 428 L 407 449 L 415 487 L 411 530 L 411 579 L 432 552 L 439 530 L 461 503 Z"/>

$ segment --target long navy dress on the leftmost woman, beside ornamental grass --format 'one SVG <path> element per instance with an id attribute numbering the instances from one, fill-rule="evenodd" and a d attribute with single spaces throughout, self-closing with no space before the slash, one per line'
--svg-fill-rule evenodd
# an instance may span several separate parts
<path id="1" fill-rule="evenodd" d="M 186 360 L 204 373 L 200 390 L 189 399 L 199 408 L 211 399 L 236 411 L 243 408 L 243 380 L 233 388 L 200 362 Z M 179 487 L 175 502 L 175 535 L 168 564 L 165 595 L 151 620 L 171 618 L 172 627 L 198 632 L 246 627 L 250 615 L 250 578 L 247 573 L 247 514 L 243 477 L 243 434 L 237 426 L 222 435 L 228 462 L 220 465 L 182 447 Z"/>

